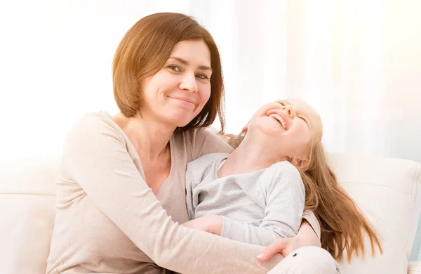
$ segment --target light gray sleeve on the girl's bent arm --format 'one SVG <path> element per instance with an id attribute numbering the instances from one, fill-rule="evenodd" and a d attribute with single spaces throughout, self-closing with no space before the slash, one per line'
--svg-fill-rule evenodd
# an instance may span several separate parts
<path id="1" fill-rule="evenodd" d="M 300 173 L 289 162 L 269 167 L 258 181 L 265 193 L 265 216 L 259 226 L 223 217 L 222 237 L 269 245 L 280 237 L 297 235 L 304 211 L 305 189 Z M 253 195 L 253 193 L 248 193 Z"/>

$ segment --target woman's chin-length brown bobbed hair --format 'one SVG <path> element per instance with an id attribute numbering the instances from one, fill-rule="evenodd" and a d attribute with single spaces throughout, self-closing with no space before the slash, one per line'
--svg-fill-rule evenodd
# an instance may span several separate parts
<path id="1" fill-rule="evenodd" d="M 223 131 L 224 84 L 218 47 L 204 27 L 184 14 L 154 13 L 140 19 L 126 32 L 112 65 L 116 103 L 124 116 L 135 115 L 142 105 L 141 81 L 158 72 L 168 60 L 175 44 L 186 40 L 203 40 L 206 43 L 213 72 L 208 102 L 182 130 L 210 126 L 218 115 Z"/>

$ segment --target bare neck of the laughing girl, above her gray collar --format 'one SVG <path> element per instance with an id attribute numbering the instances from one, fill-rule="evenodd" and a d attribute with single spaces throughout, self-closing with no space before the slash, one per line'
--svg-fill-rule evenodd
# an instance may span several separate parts
<path id="1" fill-rule="evenodd" d="M 246 136 L 239 147 L 229 155 L 218 171 L 218 176 L 224 177 L 258 171 L 279 162 L 281 157 L 274 155 L 270 146 L 261 145 L 262 143 Z"/>

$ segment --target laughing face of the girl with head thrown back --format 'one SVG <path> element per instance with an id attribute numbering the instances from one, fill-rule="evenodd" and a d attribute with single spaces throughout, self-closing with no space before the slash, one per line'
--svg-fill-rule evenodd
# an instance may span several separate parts
<path id="1" fill-rule="evenodd" d="M 322 133 L 319 115 L 302 100 L 279 100 L 260 107 L 248 124 L 247 135 L 260 140 L 282 157 L 307 158 L 307 148 Z"/>

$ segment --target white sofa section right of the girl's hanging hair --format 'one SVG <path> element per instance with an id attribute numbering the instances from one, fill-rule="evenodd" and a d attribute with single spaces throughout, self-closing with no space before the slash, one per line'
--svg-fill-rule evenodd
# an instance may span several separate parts
<path id="1" fill-rule="evenodd" d="M 420 164 L 336 153 L 328 153 L 328 162 L 384 242 L 384 254 L 372 258 L 366 241 L 366 259 L 341 262 L 343 273 L 406 273 L 421 208 Z"/>

